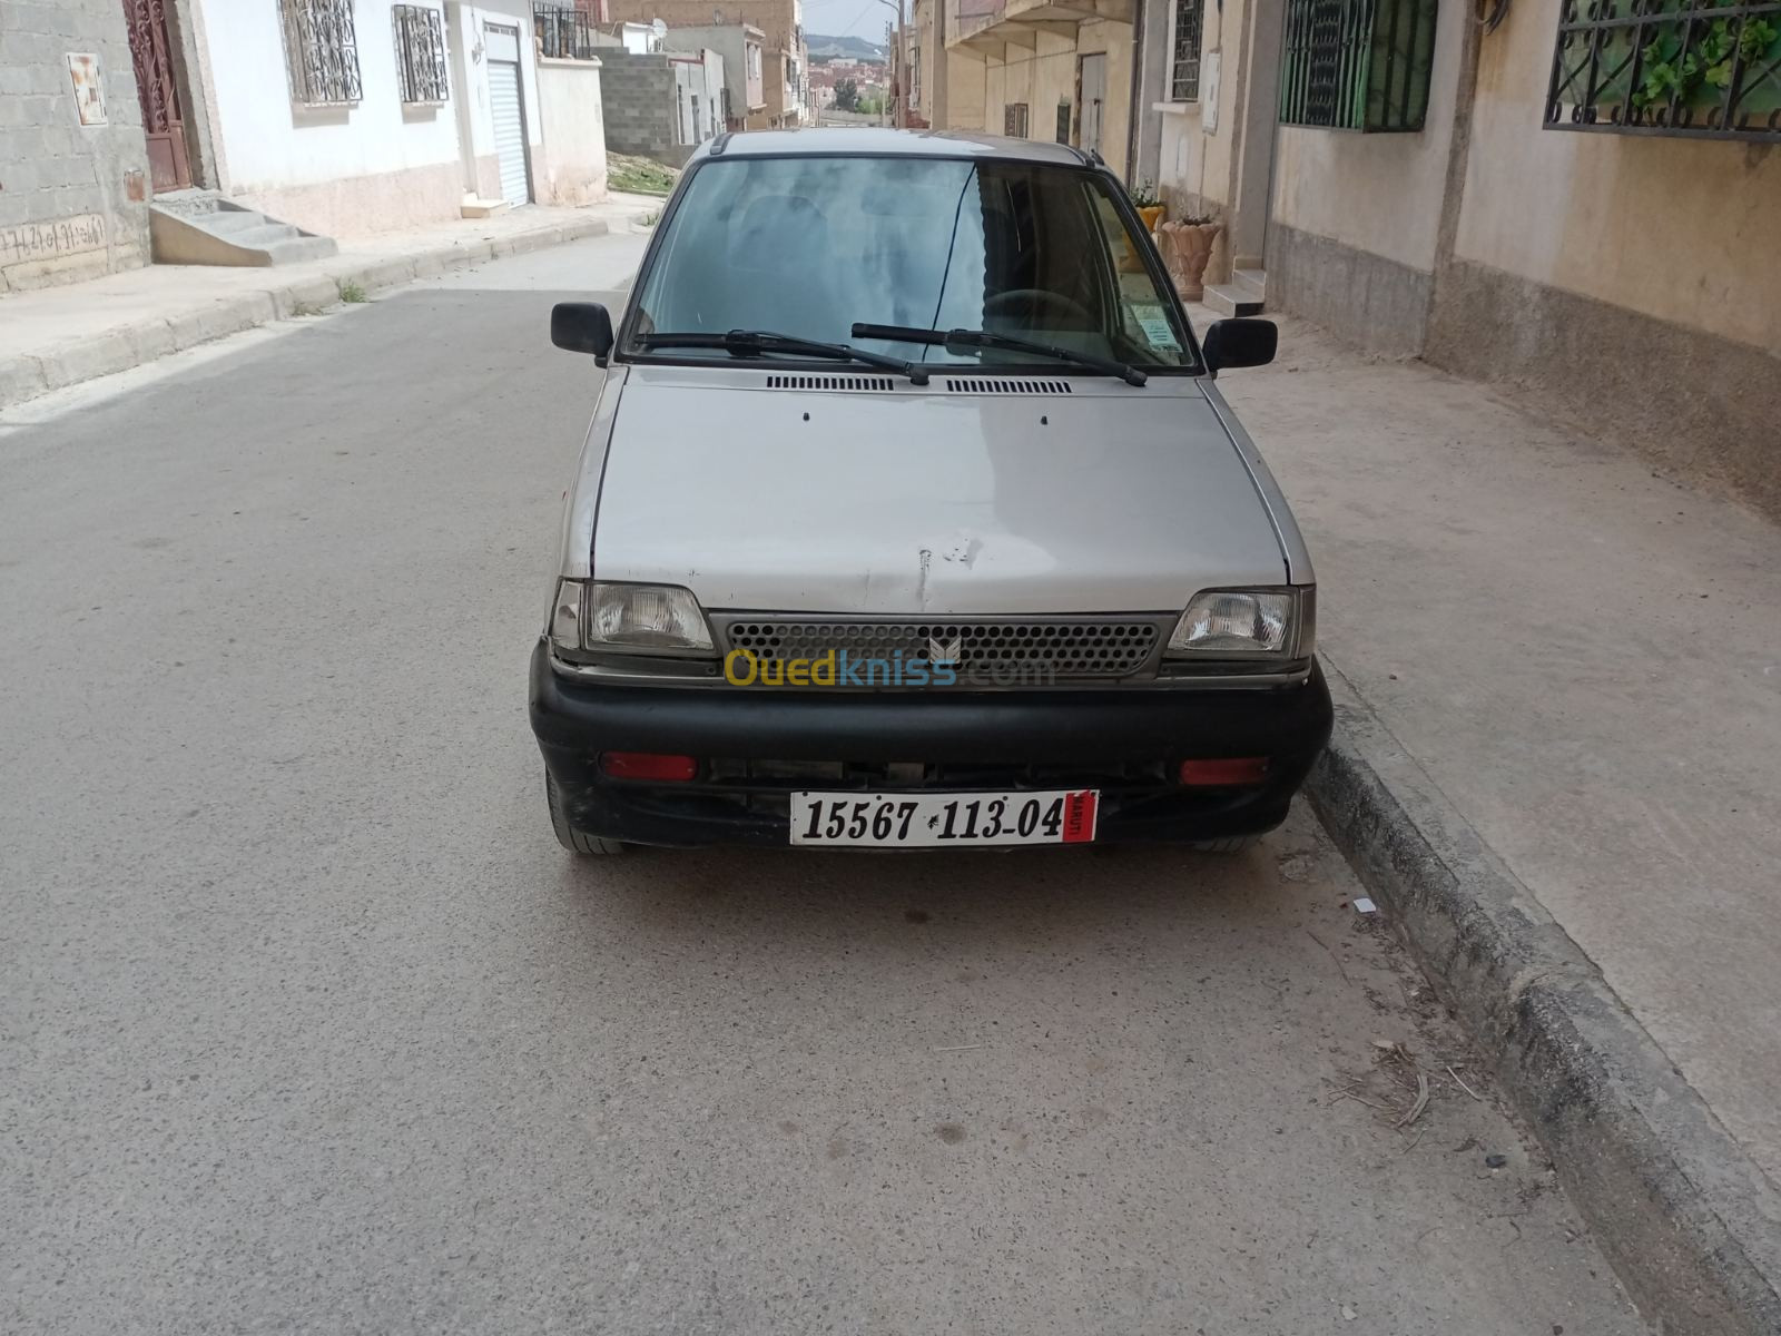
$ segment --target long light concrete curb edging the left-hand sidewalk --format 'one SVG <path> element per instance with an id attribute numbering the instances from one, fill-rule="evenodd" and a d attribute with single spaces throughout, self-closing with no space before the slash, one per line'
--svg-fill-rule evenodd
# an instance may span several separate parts
<path id="1" fill-rule="evenodd" d="M 433 246 L 411 255 L 367 262 L 324 262 L 321 276 L 310 273 L 305 278 L 240 292 L 178 315 L 157 315 L 134 324 L 112 326 L 91 338 L 64 342 L 46 353 L 5 358 L 0 362 L 0 408 L 11 408 L 50 390 L 98 376 L 130 371 L 212 338 L 224 338 L 274 321 L 289 321 L 305 310 L 335 306 L 340 303 L 342 289 L 349 283 L 365 292 L 376 292 L 411 283 L 417 278 L 438 278 L 452 269 L 484 264 L 504 255 L 524 255 L 582 237 L 602 237 L 609 230 L 607 219 L 590 217 L 490 240 Z"/>

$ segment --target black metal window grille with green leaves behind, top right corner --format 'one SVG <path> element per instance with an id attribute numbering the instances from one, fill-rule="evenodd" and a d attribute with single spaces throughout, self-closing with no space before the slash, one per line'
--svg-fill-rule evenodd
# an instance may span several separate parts
<path id="1" fill-rule="evenodd" d="M 1546 128 L 1781 139 L 1781 4 L 1564 0 Z"/>

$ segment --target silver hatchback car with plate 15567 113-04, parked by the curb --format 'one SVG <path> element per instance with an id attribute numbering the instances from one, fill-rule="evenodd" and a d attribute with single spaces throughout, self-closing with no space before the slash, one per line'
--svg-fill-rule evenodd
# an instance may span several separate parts
<path id="1" fill-rule="evenodd" d="M 1329 739 L 1316 586 L 1117 178 L 1063 144 L 723 135 L 616 330 L 533 654 L 550 819 L 629 844 L 1184 841 Z"/>

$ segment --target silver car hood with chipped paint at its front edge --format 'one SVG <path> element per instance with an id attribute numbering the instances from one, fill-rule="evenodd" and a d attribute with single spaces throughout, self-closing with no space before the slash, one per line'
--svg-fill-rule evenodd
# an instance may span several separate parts
<path id="1" fill-rule="evenodd" d="M 684 584 L 718 611 L 883 615 L 1168 611 L 1286 581 L 1256 483 L 1188 379 L 1003 395 L 639 371 L 600 481 L 600 581 Z"/>

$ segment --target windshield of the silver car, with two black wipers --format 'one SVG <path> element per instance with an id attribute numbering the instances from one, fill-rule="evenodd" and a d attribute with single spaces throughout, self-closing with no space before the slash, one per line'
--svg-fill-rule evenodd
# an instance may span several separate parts
<path id="1" fill-rule="evenodd" d="M 727 358 L 734 349 L 670 349 L 664 335 L 752 330 L 939 367 L 1061 365 L 1044 351 L 853 331 L 874 324 L 987 331 L 1147 371 L 1195 369 L 1115 189 L 1102 173 L 1033 162 L 711 159 L 695 169 L 643 276 L 625 351 Z"/>

